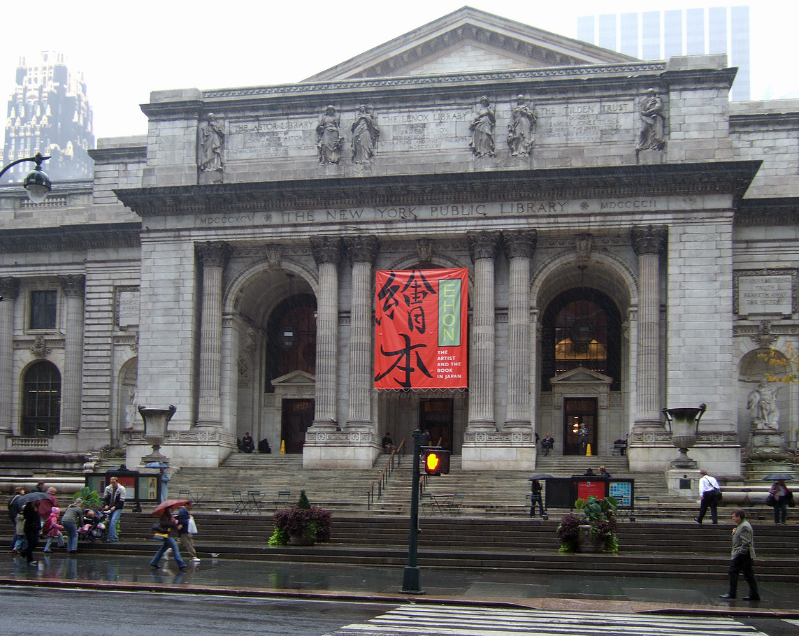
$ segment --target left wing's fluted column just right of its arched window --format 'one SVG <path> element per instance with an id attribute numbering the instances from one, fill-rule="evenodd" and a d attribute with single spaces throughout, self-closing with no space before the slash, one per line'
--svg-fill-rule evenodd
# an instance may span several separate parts
<path id="1" fill-rule="evenodd" d="M 81 427 L 81 384 L 83 383 L 83 295 L 85 277 L 59 276 L 66 296 L 64 376 L 61 381 L 62 434 L 77 435 Z"/>

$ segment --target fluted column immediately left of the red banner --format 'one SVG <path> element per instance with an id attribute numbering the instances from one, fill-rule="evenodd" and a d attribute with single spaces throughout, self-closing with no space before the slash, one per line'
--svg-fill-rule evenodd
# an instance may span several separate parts
<path id="1" fill-rule="evenodd" d="M 373 383 L 372 264 L 380 249 L 377 237 L 344 239 L 352 263 L 352 314 L 350 316 L 350 368 L 348 429 L 372 431 L 369 399 Z"/>

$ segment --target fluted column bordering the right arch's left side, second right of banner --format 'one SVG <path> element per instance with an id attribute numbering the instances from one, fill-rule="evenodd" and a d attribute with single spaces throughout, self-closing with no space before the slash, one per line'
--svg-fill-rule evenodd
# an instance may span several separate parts
<path id="1" fill-rule="evenodd" d="M 507 419 L 505 429 L 529 430 L 530 419 L 530 261 L 536 232 L 503 233 L 510 261 L 507 304 Z"/>

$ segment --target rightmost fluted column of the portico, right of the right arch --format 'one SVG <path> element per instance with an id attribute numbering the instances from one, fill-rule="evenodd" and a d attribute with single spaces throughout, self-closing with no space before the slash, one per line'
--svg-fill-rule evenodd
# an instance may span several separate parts
<path id="1" fill-rule="evenodd" d="M 638 360 L 636 426 L 662 427 L 660 401 L 660 253 L 666 248 L 666 227 L 632 229 L 638 254 Z"/>

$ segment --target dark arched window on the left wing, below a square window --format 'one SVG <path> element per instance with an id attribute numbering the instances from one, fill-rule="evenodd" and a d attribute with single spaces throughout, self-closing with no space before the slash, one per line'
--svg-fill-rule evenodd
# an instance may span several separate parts
<path id="1" fill-rule="evenodd" d="M 61 373 L 55 364 L 32 364 L 22 382 L 22 435 L 52 437 L 61 427 Z"/>

